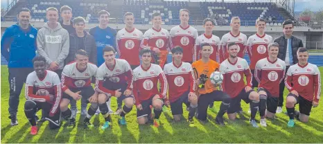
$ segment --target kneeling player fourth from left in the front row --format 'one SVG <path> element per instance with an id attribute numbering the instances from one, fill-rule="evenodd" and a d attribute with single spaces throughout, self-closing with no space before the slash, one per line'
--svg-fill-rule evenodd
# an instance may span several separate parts
<path id="1" fill-rule="evenodd" d="M 153 107 L 154 125 L 159 127 L 159 116 L 163 107 L 163 100 L 165 105 L 168 105 L 166 92 L 168 89 L 167 80 L 161 67 L 157 64 L 151 64 L 152 51 L 143 49 L 140 51 L 142 64 L 134 69 L 133 78 L 133 93 L 137 106 L 137 120 L 139 125 L 148 122 L 148 116 L 152 114 L 151 106 Z M 160 93 L 158 91 L 157 83 L 160 83 Z"/>

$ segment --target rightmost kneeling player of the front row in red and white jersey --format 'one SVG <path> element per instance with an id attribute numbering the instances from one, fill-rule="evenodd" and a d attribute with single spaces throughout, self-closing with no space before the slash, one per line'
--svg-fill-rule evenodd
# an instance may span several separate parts
<path id="1" fill-rule="evenodd" d="M 306 48 L 298 49 L 297 59 L 298 64 L 290 66 L 285 78 L 286 87 L 290 91 L 286 98 L 286 109 L 290 118 L 287 123 L 288 127 L 295 125 L 295 105 L 299 103 L 299 120 L 308 122 L 312 106 L 319 105 L 321 94 L 320 71 L 316 65 L 308 63 Z"/>

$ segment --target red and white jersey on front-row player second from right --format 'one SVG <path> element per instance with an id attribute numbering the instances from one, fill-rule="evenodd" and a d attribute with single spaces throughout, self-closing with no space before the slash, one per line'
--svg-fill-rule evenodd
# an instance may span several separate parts
<path id="1" fill-rule="evenodd" d="M 286 64 L 283 60 L 277 58 L 276 61 L 270 62 L 266 57 L 256 63 L 254 78 L 259 83 L 258 87 L 267 89 L 274 97 L 279 97 L 279 84 L 285 76 L 285 71 Z"/>

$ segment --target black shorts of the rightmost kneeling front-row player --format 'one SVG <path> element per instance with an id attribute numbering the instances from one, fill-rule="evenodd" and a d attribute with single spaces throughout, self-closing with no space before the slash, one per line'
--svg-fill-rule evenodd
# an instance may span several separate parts
<path id="1" fill-rule="evenodd" d="M 297 100 L 296 104 L 299 104 L 299 113 L 310 116 L 313 106 L 313 103 L 311 101 L 306 100 L 302 96 L 295 96 L 293 93 L 288 93 L 287 96 L 293 96 Z"/>

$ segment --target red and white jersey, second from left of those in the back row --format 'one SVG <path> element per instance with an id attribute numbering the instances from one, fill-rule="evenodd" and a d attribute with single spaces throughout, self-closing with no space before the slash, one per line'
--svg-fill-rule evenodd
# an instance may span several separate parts
<path id="1" fill-rule="evenodd" d="M 149 48 L 150 50 L 152 48 L 159 48 L 160 51 L 170 51 L 168 31 L 164 28 L 160 30 L 150 28 L 143 34 L 140 47 Z"/>

